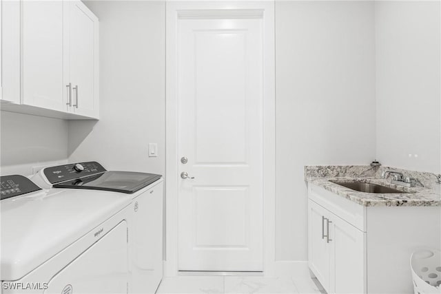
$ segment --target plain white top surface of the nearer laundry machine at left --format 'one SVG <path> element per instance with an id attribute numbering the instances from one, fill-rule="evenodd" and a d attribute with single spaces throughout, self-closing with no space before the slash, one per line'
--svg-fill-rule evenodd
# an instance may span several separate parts
<path id="1" fill-rule="evenodd" d="M 50 190 L 1 201 L 1 280 L 19 280 L 130 203 L 105 191 Z"/>

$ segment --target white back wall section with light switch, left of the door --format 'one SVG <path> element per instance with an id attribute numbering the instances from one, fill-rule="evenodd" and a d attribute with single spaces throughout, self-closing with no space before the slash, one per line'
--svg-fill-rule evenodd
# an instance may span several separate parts
<path id="1" fill-rule="evenodd" d="M 100 21 L 101 118 L 69 123 L 69 160 L 165 174 L 165 2 L 85 4 Z"/>

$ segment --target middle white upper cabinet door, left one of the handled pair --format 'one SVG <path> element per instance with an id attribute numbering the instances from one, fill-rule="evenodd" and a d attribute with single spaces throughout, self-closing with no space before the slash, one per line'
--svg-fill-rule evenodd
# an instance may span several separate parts
<path id="1" fill-rule="evenodd" d="M 22 103 L 63 107 L 63 1 L 23 1 Z"/>

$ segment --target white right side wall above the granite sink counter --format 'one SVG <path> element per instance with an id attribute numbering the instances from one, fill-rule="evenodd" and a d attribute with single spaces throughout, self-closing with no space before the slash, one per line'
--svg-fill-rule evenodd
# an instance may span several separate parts
<path id="1" fill-rule="evenodd" d="M 440 1 L 376 2 L 376 154 L 441 172 Z"/>

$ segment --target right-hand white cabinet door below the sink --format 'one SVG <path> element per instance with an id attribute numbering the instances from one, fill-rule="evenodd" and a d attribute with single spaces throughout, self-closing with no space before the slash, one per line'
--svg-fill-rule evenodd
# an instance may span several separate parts
<path id="1" fill-rule="evenodd" d="M 331 217 L 331 288 L 334 293 L 366 293 L 366 233 Z"/>

